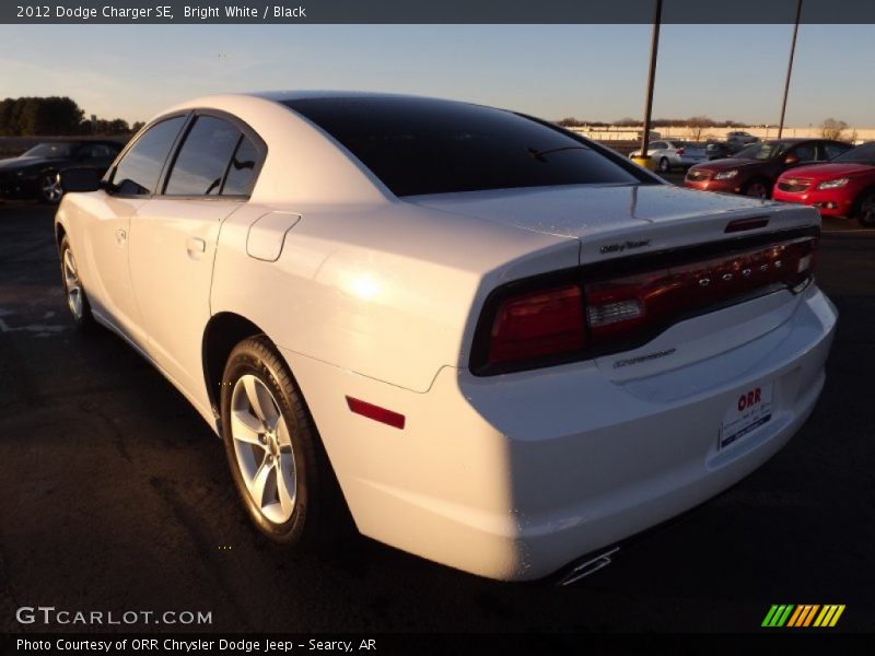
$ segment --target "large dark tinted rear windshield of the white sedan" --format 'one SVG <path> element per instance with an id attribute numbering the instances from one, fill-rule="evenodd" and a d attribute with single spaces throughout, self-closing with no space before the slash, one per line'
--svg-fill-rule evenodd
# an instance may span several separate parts
<path id="1" fill-rule="evenodd" d="M 558 128 L 502 109 L 405 97 L 284 104 L 339 141 L 396 196 L 650 181 Z"/>

